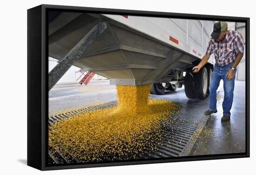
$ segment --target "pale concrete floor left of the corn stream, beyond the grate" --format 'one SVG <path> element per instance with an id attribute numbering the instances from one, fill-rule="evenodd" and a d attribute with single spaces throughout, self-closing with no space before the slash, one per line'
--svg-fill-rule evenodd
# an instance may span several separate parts
<path id="1" fill-rule="evenodd" d="M 51 98 L 54 97 L 54 98 Z M 85 84 L 56 85 L 49 92 L 49 112 L 76 108 L 97 102 L 116 100 L 115 85 L 109 81 L 90 81 Z"/>

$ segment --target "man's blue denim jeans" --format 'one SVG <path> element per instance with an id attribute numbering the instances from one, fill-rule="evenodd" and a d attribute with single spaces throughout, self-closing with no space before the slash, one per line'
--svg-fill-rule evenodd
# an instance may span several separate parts
<path id="1" fill-rule="evenodd" d="M 224 88 L 224 100 L 222 102 L 223 115 L 229 115 L 229 116 L 230 116 L 230 109 L 232 107 L 233 97 L 234 97 L 233 92 L 235 87 L 236 69 L 234 70 L 234 77 L 232 80 L 228 80 L 228 77 L 226 77 L 226 74 L 229 71 L 229 68 L 232 66 L 232 64 L 233 63 L 230 63 L 225 66 L 218 66 L 217 64 L 215 64 L 211 83 L 209 86 L 209 92 L 210 92 L 209 109 L 217 110 L 216 108 L 217 92 L 216 91 L 220 85 L 220 81 L 223 80 L 223 88 Z"/>

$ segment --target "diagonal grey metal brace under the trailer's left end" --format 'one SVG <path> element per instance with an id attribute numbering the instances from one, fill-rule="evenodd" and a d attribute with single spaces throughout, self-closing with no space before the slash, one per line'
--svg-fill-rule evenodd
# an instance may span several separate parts
<path id="1" fill-rule="evenodd" d="M 61 77 L 67 72 L 67 70 L 74 65 L 74 62 L 79 59 L 86 48 L 98 38 L 98 36 L 107 28 L 105 21 L 99 20 L 89 32 L 86 34 L 59 62 L 48 74 L 48 91 L 54 87 L 54 85 L 61 79 Z"/>

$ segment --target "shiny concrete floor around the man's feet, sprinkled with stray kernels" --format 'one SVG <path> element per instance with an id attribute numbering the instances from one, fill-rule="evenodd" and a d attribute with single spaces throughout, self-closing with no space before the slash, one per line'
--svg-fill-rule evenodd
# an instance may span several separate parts
<path id="1" fill-rule="evenodd" d="M 245 81 L 235 82 L 234 101 L 229 122 L 221 122 L 223 97 L 223 88 L 220 87 L 217 95 L 219 98 L 218 113 L 211 114 L 190 155 L 245 152 Z"/>

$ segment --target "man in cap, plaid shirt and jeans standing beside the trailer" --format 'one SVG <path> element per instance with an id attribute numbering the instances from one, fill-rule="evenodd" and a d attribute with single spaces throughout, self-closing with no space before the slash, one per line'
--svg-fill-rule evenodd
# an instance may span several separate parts
<path id="1" fill-rule="evenodd" d="M 214 24 L 211 37 L 206 54 L 200 63 L 193 67 L 193 72 L 199 72 L 209 60 L 210 55 L 214 54 L 216 63 L 209 86 L 209 110 L 204 114 L 210 115 L 217 112 L 216 91 L 220 81 L 223 80 L 224 100 L 222 103 L 223 116 L 221 121 L 229 121 L 233 102 L 236 66 L 241 61 L 244 51 L 243 37 L 237 31 L 228 30 L 228 24 L 224 21 Z"/>

